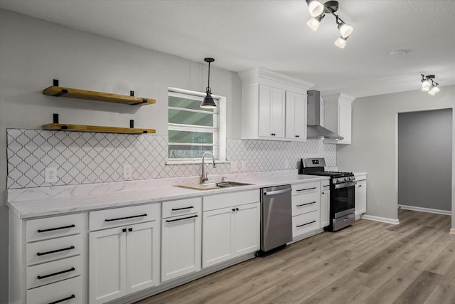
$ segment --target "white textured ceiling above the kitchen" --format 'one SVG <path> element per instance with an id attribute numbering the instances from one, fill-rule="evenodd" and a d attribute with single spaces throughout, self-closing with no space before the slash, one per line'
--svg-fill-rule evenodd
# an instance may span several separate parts
<path id="1" fill-rule="evenodd" d="M 304 0 L 0 0 L 0 8 L 191 61 L 213 57 L 226 70 L 267 68 L 322 94 L 419 90 L 421 73 L 455 85 L 451 0 L 340 1 L 337 14 L 354 28 L 344 49 L 333 45 L 334 16 L 317 32 L 306 26 Z M 395 50 L 406 53 L 390 56 Z"/>

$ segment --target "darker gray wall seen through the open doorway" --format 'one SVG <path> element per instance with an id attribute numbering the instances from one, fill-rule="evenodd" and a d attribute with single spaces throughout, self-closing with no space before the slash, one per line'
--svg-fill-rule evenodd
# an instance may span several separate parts
<path id="1" fill-rule="evenodd" d="M 398 114 L 398 204 L 451 211 L 452 109 Z"/>

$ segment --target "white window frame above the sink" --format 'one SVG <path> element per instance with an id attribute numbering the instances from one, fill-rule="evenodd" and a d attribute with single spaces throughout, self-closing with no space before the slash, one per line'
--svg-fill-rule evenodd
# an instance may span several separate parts
<path id="1" fill-rule="evenodd" d="M 200 99 L 201 101 L 205 97 L 205 93 L 191 91 L 191 90 L 183 90 L 179 88 L 168 88 L 168 96 L 181 96 L 181 97 L 191 97 Z M 214 122 L 215 127 L 218 125 L 218 132 L 213 133 L 213 146 L 214 150 L 216 149 L 217 152 L 214 154 L 215 160 L 217 162 L 225 162 L 226 161 L 226 98 L 220 95 L 213 95 L 213 99 L 218 101 L 218 122 Z M 169 105 L 168 105 L 169 110 Z M 188 110 L 191 112 L 191 110 Z M 193 110 L 194 112 L 198 112 L 198 110 Z M 178 124 L 169 123 L 168 121 L 168 131 L 169 130 L 181 130 L 181 131 L 202 131 L 204 128 L 212 130 L 213 127 L 194 127 L 194 126 L 183 126 Z M 181 144 L 179 144 L 181 145 Z M 183 144 L 184 145 L 184 144 Z M 168 142 L 169 146 L 169 142 Z M 212 145 L 210 145 L 212 146 Z M 169 152 L 169 147 L 168 147 Z M 169 155 L 169 154 L 168 154 Z M 166 157 L 166 164 L 196 164 L 200 163 L 199 158 L 169 158 Z"/>

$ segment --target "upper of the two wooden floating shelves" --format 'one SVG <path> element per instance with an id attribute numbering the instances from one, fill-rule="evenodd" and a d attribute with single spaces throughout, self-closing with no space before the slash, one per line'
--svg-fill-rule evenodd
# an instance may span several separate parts
<path id="1" fill-rule="evenodd" d="M 141 98 L 135 96 L 63 88 L 54 85 L 45 88 L 43 90 L 43 94 L 55 97 L 68 97 L 86 100 L 106 101 L 108 103 L 123 103 L 125 105 L 151 105 L 152 103 L 156 103 L 156 100 L 151 98 Z"/>

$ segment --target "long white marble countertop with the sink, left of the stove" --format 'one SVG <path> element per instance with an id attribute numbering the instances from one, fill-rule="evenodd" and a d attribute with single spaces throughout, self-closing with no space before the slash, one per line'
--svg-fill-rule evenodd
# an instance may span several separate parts
<path id="1" fill-rule="evenodd" d="M 212 176 L 208 182 L 220 182 Z M 9 189 L 7 205 L 21 219 L 51 216 L 80 211 L 92 211 L 119 206 L 150 204 L 154 202 L 188 199 L 229 192 L 247 191 L 282 184 L 318 182 L 328 177 L 299 175 L 297 170 L 223 174 L 228 181 L 245 182 L 241 187 L 196 190 L 177 187 L 178 184 L 198 183 L 199 177 L 155 179 L 73 186 Z"/>

